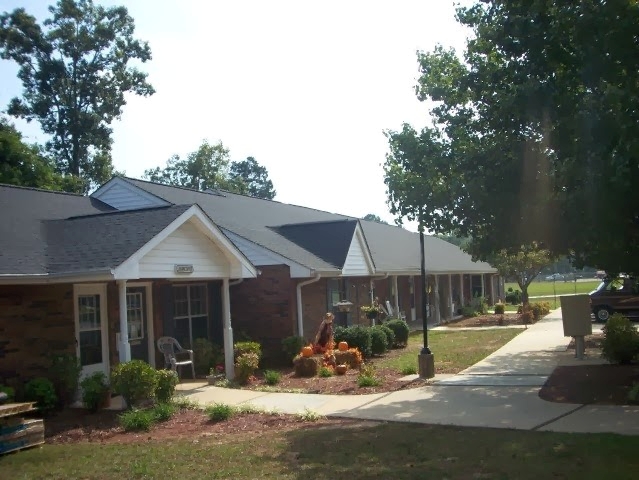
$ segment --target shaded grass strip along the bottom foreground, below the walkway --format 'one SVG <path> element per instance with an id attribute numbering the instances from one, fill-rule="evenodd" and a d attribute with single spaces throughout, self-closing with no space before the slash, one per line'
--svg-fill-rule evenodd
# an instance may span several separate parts
<path id="1" fill-rule="evenodd" d="M 639 437 L 401 423 L 172 442 L 45 445 L 0 458 L 35 479 L 636 479 Z"/>

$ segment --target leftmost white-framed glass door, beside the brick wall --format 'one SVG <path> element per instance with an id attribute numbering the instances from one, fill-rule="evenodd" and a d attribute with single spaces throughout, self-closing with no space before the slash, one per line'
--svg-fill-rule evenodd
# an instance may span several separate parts
<path id="1" fill-rule="evenodd" d="M 75 332 L 81 376 L 109 374 L 106 285 L 74 285 Z"/>

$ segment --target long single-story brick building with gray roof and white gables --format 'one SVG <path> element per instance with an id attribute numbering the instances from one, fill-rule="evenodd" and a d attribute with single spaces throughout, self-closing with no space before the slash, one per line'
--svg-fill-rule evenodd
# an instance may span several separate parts
<path id="1" fill-rule="evenodd" d="M 419 236 L 402 228 L 229 192 L 114 177 L 91 196 L 0 186 L 0 383 L 75 352 L 83 373 L 155 342 L 208 338 L 232 364 L 233 332 L 280 348 L 312 338 L 347 301 L 369 323 L 374 297 L 421 324 Z M 426 237 L 428 321 L 477 295 L 503 296 L 496 270 Z"/>

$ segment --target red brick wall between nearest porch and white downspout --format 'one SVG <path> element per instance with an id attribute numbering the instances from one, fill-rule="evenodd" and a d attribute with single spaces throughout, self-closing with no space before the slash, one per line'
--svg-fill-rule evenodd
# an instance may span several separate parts
<path id="1" fill-rule="evenodd" d="M 234 337 L 246 333 L 265 351 L 279 353 L 281 340 L 295 333 L 295 283 L 286 265 L 261 266 L 255 279 L 231 286 Z"/>

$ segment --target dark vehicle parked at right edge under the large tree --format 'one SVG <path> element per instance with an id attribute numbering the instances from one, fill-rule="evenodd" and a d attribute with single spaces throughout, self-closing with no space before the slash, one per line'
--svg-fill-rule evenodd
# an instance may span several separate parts
<path id="1" fill-rule="evenodd" d="M 590 306 L 597 322 L 605 322 L 615 312 L 639 319 L 639 279 L 605 278 L 590 292 Z"/>

